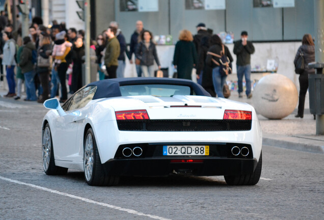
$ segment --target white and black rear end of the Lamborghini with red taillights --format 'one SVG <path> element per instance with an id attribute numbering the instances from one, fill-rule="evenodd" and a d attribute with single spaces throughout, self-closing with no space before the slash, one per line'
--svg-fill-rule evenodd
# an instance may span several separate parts
<path id="1" fill-rule="evenodd" d="M 102 131 L 98 150 L 110 175 L 227 176 L 256 169 L 262 134 L 248 104 L 181 95 L 105 102 L 115 117 L 96 130 Z"/>

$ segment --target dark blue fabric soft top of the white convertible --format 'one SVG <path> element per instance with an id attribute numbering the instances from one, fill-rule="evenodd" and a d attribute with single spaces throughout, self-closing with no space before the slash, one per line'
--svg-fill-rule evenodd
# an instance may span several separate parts
<path id="1" fill-rule="evenodd" d="M 95 82 L 91 82 L 87 85 L 96 86 L 97 91 L 93 96 L 93 99 L 110 98 L 122 96 L 119 87 L 126 85 L 141 85 L 141 84 L 168 84 L 168 85 L 180 85 L 188 86 L 192 88 L 196 95 L 210 96 L 210 94 L 202 88 L 199 84 L 196 84 L 192 80 L 177 79 L 177 78 L 157 78 L 157 77 L 133 77 L 133 78 L 113 78 L 103 79 Z"/>

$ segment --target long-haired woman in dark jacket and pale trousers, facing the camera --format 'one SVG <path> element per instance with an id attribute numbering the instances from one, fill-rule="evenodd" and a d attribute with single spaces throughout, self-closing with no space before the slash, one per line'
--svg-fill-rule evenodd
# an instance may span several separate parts
<path id="1" fill-rule="evenodd" d="M 157 57 L 156 47 L 152 41 L 152 33 L 145 30 L 141 34 L 142 41 L 138 44 L 135 56 L 140 60 L 140 65 L 144 77 L 154 77 L 154 60 L 161 69 L 160 62 Z"/>

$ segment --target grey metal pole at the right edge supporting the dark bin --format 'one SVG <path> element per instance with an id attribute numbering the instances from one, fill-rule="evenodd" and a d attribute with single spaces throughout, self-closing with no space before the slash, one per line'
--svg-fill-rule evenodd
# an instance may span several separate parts
<path id="1" fill-rule="evenodd" d="M 314 0 L 315 61 L 324 62 L 324 0 Z M 321 94 L 323 95 L 323 94 Z M 324 134 L 324 115 L 316 115 L 316 134 Z"/>

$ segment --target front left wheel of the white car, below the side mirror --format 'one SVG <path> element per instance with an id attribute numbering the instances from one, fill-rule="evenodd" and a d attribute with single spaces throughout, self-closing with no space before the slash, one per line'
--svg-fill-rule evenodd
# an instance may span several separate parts
<path id="1" fill-rule="evenodd" d="M 47 175 L 66 175 L 68 169 L 55 165 L 52 135 L 49 125 L 46 124 L 42 134 L 42 161 Z"/>

